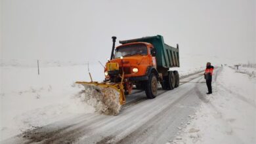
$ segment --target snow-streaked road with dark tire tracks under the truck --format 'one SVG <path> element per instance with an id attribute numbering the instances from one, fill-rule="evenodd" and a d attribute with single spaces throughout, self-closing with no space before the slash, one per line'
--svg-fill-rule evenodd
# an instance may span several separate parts
<path id="1" fill-rule="evenodd" d="M 214 77 L 217 77 L 219 71 L 221 68 L 215 70 Z M 129 96 L 129 102 L 118 116 L 79 115 L 2 142 L 167 143 L 195 112 L 206 92 L 205 80 L 202 73 L 199 73 L 182 79 L 181 86 L 175 90 L 160 90 L 155 99 L 145 99 L 144 92 Z"/>

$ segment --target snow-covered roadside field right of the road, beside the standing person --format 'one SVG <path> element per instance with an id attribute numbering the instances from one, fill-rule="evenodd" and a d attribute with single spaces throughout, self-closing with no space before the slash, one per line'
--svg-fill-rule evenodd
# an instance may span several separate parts
<path id="1" fill-rule="evenodd" d="M 169 143 L 256 143 L 256 69 L 239 69 L 223 67 L 213 94 Z"/>

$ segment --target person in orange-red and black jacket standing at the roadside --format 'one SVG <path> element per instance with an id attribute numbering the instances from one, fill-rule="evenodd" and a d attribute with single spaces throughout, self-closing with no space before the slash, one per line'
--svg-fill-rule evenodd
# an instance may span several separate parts
<path id="1" fill-rule="evenodd" d="M 213 66 L 211 65 L 210 62 L 206 63 L 206 69 L 205 69 L 205 73 L 204 73 L 204 78 L 206 80 L 206 85 L 208 88 L 208 92 L 206 94 L 211 94 L 212 90 L 211 90 L 211 77 L 213 75 Z"/>

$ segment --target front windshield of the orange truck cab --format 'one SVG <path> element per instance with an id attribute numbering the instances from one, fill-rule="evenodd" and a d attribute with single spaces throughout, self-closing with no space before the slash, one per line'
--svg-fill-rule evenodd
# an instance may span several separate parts
<path id="1" fill-rule="evenodd" d="M 121 56 L 133 56 L 137 54 L 146 56 L 148 54 L 146 45 L 136 44 L 119 46 L 116 49 L 115 58 L 120 58 Z"/>

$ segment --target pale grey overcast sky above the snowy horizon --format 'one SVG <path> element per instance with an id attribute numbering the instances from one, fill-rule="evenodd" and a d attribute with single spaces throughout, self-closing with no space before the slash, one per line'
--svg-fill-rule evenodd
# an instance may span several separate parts
<path id="1" fill-rule="evenodd" d="M 163 35 L 183 64 L 255 62 L 255 9 L 255 0 L 1 0 L 1 58 L 104 61 L 113 35 Z"/>

